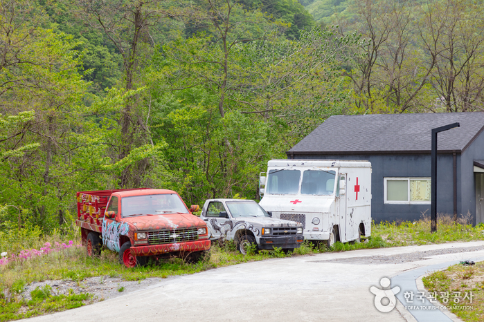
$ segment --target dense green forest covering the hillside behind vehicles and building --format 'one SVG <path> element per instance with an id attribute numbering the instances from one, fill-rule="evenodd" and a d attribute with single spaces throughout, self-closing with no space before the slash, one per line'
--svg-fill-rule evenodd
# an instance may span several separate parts
<path id="1" fill-rule="evenodd" d="M 256 199 L 331 115 L 484 111 L 471 0 L 0 0 L 0 232 L 75 192 Z"/>

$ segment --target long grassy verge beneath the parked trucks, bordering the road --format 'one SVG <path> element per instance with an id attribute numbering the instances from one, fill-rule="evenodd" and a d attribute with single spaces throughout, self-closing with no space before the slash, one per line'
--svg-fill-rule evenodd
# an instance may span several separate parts
<path id="1" fill-rule="evenodd" d="M 37 281 L 62 279 L 81 283 L 85 278 L 94 276 L 101 276 L 100 281 L 102 276 L 120 277 L 125 281 L 141 281 L 150 277 L 167 278 L 174 275 L 194 274 L 216 267 L 263 261 L 269 258 L 484 239 L 484 227 L 467 225 L 466 218 L 459 218 L 456 224 L 449 216 L 440 216 L 437 227 L 438 231 L 431 234 L 430 221 L 426 217 L 422 217 L 421 220 L 416 222 L 382 222 L 378 225 L 373 224 L 371 236 L 363 243 L 343 244 L 337 242 L 332 249 L 328 249 L 324 243 L 305 241 L 300 248 L 288 254 L 283 252 L 282 249 L 257 252 L 254 247 L 247 256 L 243 256 L 237 252 L 235 244 L 232 242 L 213 243 L 210 249 L 210 258 L 195 265 L 186 264 L 181 258 L 169 258 L 159 262 L 150 260 L 145 267 L 133 269 L 120 265 L 118 254 L 109 250 L 103 250 L 99 258 L 89 258 L 85 255 L 84 247 L 72 247 L 64 249 L 62 252 L 30 258 L 27 261 L 0 265 L 0 307 L 2 310 L 0 321 L 23 319 L 28 316 L 54 312 L 55 310 L 68 310 L 83 303 L 100 301 L 100 299 L 92 299 L 88 295 L 85 295 L 87 296 L 86 299 L 81 299 L 84 295 L 81 298 L 76 297 L 79 294 L 70 294 L 71 297 L 51 295 L 35 305 L 27 305 L 21 299 L 20 294 L 25 285 Z M 55 232 L 52 236 L 38 238 L 35 234 L 28 234 L 26 231 L 19 232 L 21 238 L 15 239 L 15 236 L 12 233 L 0 236 L 3 237 L 3 240 L 0 239 L 0 247 L 2 247 L 0 252 L 15 254 L 22 249 L 39 249 L 46 242 L 55 243 L 57 241 L 62 243 L 68 238 L 73 239 L 75 245 L 80 244 L 80 234 L 75 230 L 71 231 L 70 236 L 67 237 Z M 119 287 L 118 290 L 121 288 Z"/>

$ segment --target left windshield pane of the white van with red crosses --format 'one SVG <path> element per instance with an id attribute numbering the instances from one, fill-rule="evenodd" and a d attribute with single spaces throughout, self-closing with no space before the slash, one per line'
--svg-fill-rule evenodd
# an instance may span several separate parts
<path id="1" fill-rule="evenodd" d="M 267 176 L 267 193 L 295 195 L 299 191 L 299 170 L 269 170 Z"/>

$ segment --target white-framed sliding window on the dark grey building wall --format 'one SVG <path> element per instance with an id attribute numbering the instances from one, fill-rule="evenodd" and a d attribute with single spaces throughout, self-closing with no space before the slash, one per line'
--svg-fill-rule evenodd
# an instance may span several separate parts
<path id="1" fill-rule="evenodd" d="M 429 204 L 430 178 L 384 178 L 384 198 L 389 204 Z"/>

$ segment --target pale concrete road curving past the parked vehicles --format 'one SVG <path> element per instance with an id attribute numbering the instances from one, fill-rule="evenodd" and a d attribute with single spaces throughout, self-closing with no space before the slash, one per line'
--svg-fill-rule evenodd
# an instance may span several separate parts
<path id="1" fill-rule="evenodd" d="M 408 312 L 377 311 L 370 287 L 380 288 L 385 276 L 484 256 L 484 250 L 404 263 L 384 263 L 375 256 L 401 258 L 474 246 L 482 247 L 484 241 L 362 249 L 222 267 L 167 278 L 145 290 L 29 321 L 406 321 Z"/>

